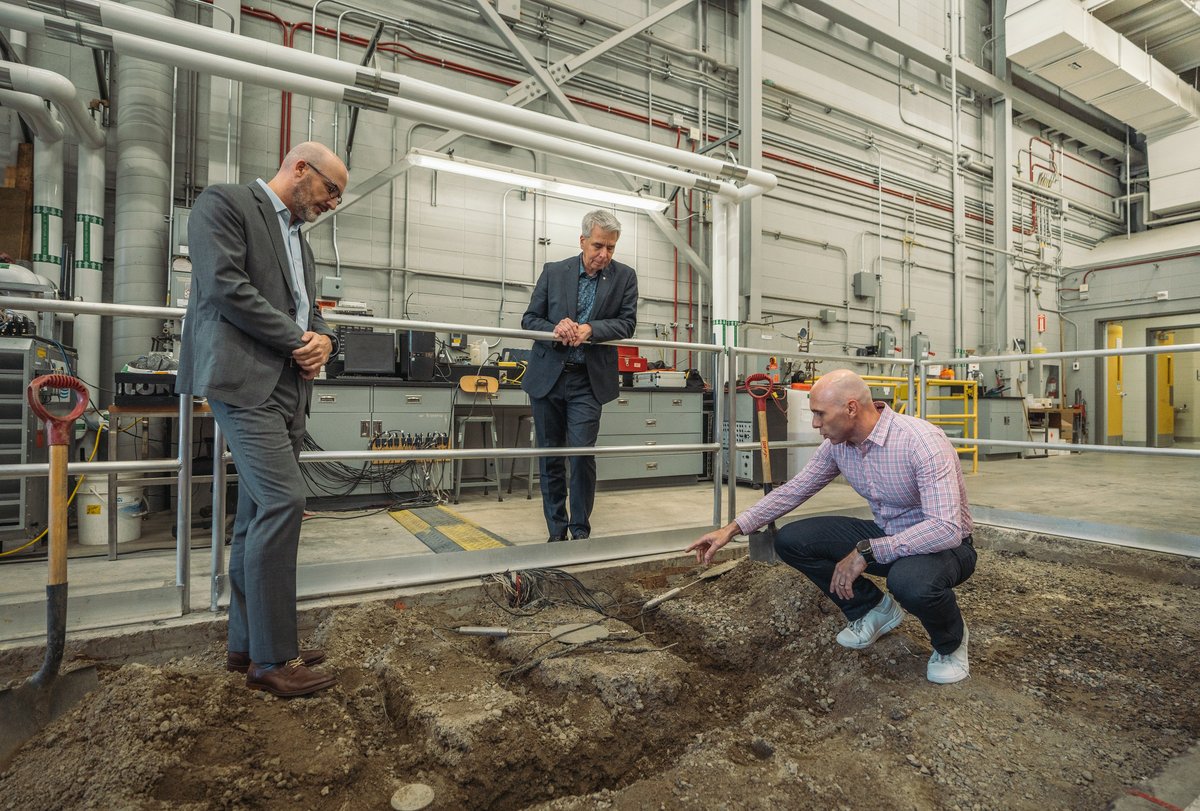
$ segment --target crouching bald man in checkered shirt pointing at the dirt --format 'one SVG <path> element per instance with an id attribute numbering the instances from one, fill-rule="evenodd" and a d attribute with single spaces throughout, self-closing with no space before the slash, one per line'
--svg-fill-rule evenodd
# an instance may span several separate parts
<path id="1" fill-rule="evenodd" d="M 976 551 L 954 446 L 937 426 L 872 402 L 866 383 L 850 370 L 817 380 L 809 403 L 812 427 L 824 437 L 812 459 L 688 551 L 712 563 L 734 535 L 749 535 L 787 515 L 840 474 L 866 499 L 875 519 L 800 518 L 779 530 L 775 551 L 828 590 L 850 620 L 838 633 L 839 644 L 866 648 L 900 625 L 908 611 L 934 645 L 929 680 L 961 681 L 970 674 L 967 626 L 954 587 L 974 572 Z M 886 577 L 890 595 L 863 572 Z"/>

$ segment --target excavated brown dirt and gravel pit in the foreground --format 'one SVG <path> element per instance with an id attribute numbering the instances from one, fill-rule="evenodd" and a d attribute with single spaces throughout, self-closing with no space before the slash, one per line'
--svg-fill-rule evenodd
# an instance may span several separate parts
<path id="1" fill-rule="evenodd" d="M 311 698 L 246 690 L 217 642 L 104 666 L 0 773 L 0 807 L 358 811 L 422 783 L 434 809 L 1103 809 L 1200 737 L 1195 560 L 978 547 L 958 685 L 925 680 L 912 618 L 840 648 L 840 614 L 784 565 L 637 617 L 701 571 L 643 565 L 580 576 L 624 621 L 514 617 L 496 588 L 328 609 L 310 641 L 340 684 Z M 451 630 L 596 619 L 608 638 L 576 648 Z"/>

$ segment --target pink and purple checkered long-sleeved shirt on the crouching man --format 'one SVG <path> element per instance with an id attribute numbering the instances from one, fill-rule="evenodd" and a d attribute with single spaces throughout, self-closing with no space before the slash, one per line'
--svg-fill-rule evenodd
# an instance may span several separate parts
<path id="1" fill-rule="evenodd" d="M 737 517 L 742 533 L 787 515 L 841 474 L 887 533 L 871 540 L 877 561 L 959 546 L 973 523 L 954 446 L 925 420 L 875 408 L 880 421 L 862 445 L 826 439 L 799 474 Z"/>

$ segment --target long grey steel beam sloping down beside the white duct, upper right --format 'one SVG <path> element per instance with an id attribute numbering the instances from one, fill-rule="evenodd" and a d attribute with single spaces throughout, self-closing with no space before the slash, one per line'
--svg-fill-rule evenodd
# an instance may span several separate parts
<path id="1" fill-rule="evenodd" d="M 914 37 L 912 32 L 905 31 L 892 20 L 875 13 L 866 6 L 854 0 L 773 0 L 776 8 L 787 6 L 800 6 L 817 14 L 821 14 L 830 23 L 841 25 L 848 31 L 859 34 L 877 44 L 893 50 L 900 56 L 918 65 L 936 71 L 938 74 L 949 76 L 950 58 L 942 48 Z M 1003 58 L 1002 54 L 997 54 Z M 954 66 L 958 71 L 959 82 L 971 88 L 976 92 L 996 98 L 1007 96 L 1012 100 L 1013 107 L 1022 113 L 1027 113 L 1042 124 L 1058 130 L 1070 136 L 1109 157 L 1118 161 L 1126 160 L 1126 143 L 1123 139 L 1114 138 L 1093 126 L 1084 124 L 1074 116 L 1046 104 L 1042 100 L 1024 90 L 1003 82 L 986 71 L 980 70 L 962 59 L 954 58 Z"/>

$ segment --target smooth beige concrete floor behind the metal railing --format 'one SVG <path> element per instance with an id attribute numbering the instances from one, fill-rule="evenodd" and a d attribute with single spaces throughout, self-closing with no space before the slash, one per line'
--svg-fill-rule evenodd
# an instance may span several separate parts
<path id="1" fill-rule="evenodd" d="M 1198 474 L 1200 464 L 1194 458 L 1100 453 L 1014 457 L 980 462 L 979 471 L 967 475 L 967 493 L 980 523 L 1133 542 L 1200 557 L 1200 540 L 1194 529 Z M 746 509 L 760 495 L 761 491 L 738 487 L 738 510 Z M 725 509 L 724 488 L 721 498 Z M 582 543 L 544 542 L 546 527 L 536 492 L 530 500 L 517 487 L 497 501 L 494 492 L 485 495 L 476 489 L 464 492 L 461 504 L 448 506 L 517 549 L 540 555 L 530 564 L 528 554 L 522 558 L 512 549 L 487 555 L 472 552 L 470 555 L 480 555 L 470 559 L 475 565 L 503 570 L 582 560 L 578 557 Z M 864 501 L 857 493 L 846 485 L 834 483 L 798 513 L 862 509 Z M 107 547 L 72 542 L 70 630 L 180 614 L 172 521 L 169 513 L 145 519 L 142 539 L 122 543 L 115 561 L 106 559 Z M 647 547 L 658 545 L 650 549 L 654 552 L 682 549 L 706 531 L 712 521 L 712 482 L 602 489 L 596 497 L 594 536 L 588 548 L 608 545 L 618 549 L 610 558 L 634 557 L 640 551 L 637 539 L 642 539 Z M 190 602 L 196 612 L 206 612 L 211 602 L 209 546 L 209 533 L 194 530 L 188 579 Z M 336 593 L 337 588 L 330 583 L 344 578 L 348 571 L 361 579 L 354 590 L 385 588 L 389 565 L 394 571 L 412 572 L 433 566 L 431 558 L 466 560 L 458 555 L 433 555 L 386 512 L 314 513 L 306 518 L 301 536 L 301 595 Z M 506 563 L 506 558 L 515 563 Z M 0 565 L 0 647 L 20 644 L 19 639 L 29 641 L 44 632 L 44 558 Z M 425 582 L 436 578 L 433 571 L 425 576 Z"/>

